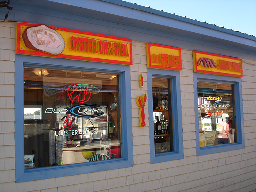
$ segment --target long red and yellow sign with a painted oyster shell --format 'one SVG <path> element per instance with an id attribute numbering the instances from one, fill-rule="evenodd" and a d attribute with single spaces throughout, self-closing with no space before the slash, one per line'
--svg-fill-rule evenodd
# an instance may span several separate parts
<path id="1" fill-rule="evenodd" d="M 18 22 L 16 53 L 132 65 L 132 40 Z"/>

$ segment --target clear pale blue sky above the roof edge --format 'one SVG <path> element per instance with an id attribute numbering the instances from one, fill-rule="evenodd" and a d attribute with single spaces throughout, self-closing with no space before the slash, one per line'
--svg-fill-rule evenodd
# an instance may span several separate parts
<path id="1" fill-rule="evenodd" d="M 124 0 L 256 36 L 256 0 Z"/>

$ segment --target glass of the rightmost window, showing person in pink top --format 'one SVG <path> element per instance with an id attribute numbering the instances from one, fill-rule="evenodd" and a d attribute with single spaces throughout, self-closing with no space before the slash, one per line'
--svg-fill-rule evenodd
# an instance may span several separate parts
<path id="1" fill-rule="evenodd" d="M 237 142 L 234 85 L 197 82 L 200 147 Z"/>

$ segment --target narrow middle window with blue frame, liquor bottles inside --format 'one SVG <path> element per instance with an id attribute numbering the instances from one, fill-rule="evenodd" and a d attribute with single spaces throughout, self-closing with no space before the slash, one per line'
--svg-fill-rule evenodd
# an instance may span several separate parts
<path id="1" fill-rule="evenodd" d="M 151 163 L 183 158 L 180 76 L 148 69 Z"/>

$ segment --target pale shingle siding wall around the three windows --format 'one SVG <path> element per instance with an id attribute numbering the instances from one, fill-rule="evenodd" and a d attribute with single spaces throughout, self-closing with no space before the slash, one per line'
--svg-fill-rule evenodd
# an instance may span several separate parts
<path id="1" fill-rule="evenodd" d="M 131 70 L 134 166 L 117 170 L 15 183 L 15 24 L 0 22 L 0 192 L 176 192 L 256 189 L 256 61 L 243 59 L 245 149 L 196 156 L 192 50 L 182 49 L 180 71 L 184 159 L 150 164 L 148 102 L 139 127 L 137 96 L 147 92 L 146 43 L 133 41 Z M 144 78 L 139 88 L 139 74 Z"/>

